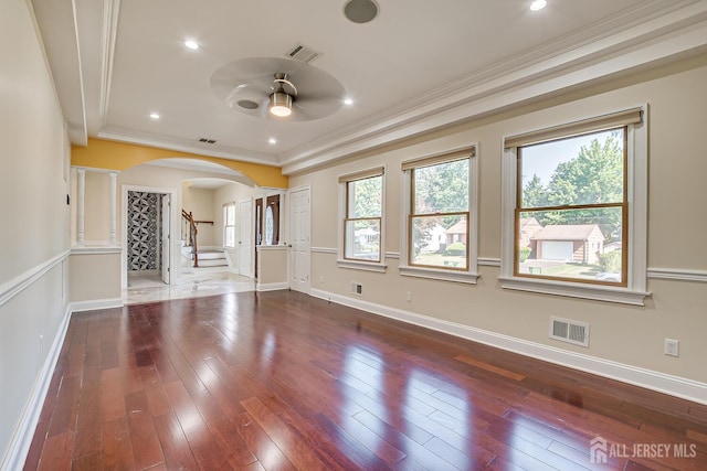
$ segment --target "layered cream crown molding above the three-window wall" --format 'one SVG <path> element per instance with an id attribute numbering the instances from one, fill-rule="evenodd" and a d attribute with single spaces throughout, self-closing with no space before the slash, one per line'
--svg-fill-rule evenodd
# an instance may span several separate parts
<path id="1" fill-rule="evenodd" d="M 580 85 L 697 54 L 707 46 L 707 2 L 646 2 L 469 75 L 281 158 L 296 174 L 381 146 L 488 116 Z M 657 42 L 659 41 L 659 43 Z M 409 104 L 408 104 L 409 105 Z"/>

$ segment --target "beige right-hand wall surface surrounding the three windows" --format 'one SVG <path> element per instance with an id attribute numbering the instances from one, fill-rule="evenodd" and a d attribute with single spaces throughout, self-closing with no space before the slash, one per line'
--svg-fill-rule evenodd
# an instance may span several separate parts
<path id="1" fill-rule="evenodd" d="M 500 257 L 500 181 L 504 136 L 573 121 L 613 110 L 650 106 L 648 267 L 707 270 L 705 202 L 707 159 L 703 135 L 707 109 L 707 56 L 643 75 L 573 92 L 428 138 L 372 152 L 325 170 L 291 178 L 312 185 L 313 288 L 350 297 L 351 281 L 363 285 L 363 302 L 490 331 L 569 352 L 707 383 L 707 286 L 651 278 L 645 307 L 630 307 L 500 289 L 499 268 L 482 266 L 476 286 L 402 277 L 400 250 L 400 162 L 478 142 L 479 257 Z M 337 179 L 386 165 L 386 274 L 336 265 Z M 324 248 L 325 250 L 317 250 Z M 400 254 L 404 257 L 404 254 Z M 319 280 L 324 279 L 324 282 Z M 412 302 L 405 300 L 412 293 Z M 589 349 L 548 339 L 550 315 L 591 324 Z M 680 356 L 663 354 L 665 338 L 680 342 Z M 707 398 L 705 398 L 707 400 Z"/>

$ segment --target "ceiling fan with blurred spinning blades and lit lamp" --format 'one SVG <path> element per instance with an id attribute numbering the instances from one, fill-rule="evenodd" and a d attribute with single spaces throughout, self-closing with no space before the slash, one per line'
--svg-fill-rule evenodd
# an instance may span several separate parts
<path id="1" fill-rule="evenodd" d="M 260 119 L 308 121 L 336 113 L 344 87 L 327 72 L 300 61 L 249 57 L 211 75 L 211 90 L 226 106 Z"/>

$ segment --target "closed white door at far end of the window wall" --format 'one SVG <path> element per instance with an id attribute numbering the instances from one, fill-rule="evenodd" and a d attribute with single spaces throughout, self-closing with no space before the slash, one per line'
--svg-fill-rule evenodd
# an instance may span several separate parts
<path id="1" fill-rule="evenodd" d="M 309 189 L 295 190 L 289 194 L 289 288 L 309 292 L 310 218 Z"/>

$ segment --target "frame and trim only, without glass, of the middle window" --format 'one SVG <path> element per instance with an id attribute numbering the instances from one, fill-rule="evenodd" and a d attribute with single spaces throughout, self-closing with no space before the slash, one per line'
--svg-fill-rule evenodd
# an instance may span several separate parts
<path id="1" fill-rule="evenodd" d="M 478 143 L 473 143 L 445 152 L 407 160 L 401 163 L 401 254 L 399 272 L 401 276 L 429 278 L 445 281 L 475 285 L 478 275 Z M 420 216 L 413 213 L 414 182 L 413 170 L 468 159 L 468 205 L 466 218 L 466 268 L 437 267 L 412 264 L 412 220 Z M 449 214 L 461 214 L 451 212 Z M 442 213 L 441 213 L 442 214 Z M 447 214 L 447 213 L 444 213 Z"/>

